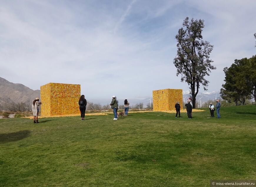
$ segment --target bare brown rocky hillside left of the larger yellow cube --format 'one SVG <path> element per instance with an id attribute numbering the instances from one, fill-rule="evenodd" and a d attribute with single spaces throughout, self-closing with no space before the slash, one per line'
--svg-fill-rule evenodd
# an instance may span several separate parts
<path id="1" fill-rule="evenodd" d="M 40 98 L 40 90 L 32 90 L 23 84 L 14 84 L 0 77 L 0 104 L 32 103 Z"/>

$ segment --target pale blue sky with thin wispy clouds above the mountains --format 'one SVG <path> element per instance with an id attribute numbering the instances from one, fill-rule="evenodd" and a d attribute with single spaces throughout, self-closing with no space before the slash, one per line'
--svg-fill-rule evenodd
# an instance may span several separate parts
<path id="1" fill-rule="evenodd" d="M 0 77 L 36 90 L 81 84 L 86 98 L 148 98 L 153 90 L 189 90 L 176 76 L 177 35 L 186 17 L 203 19 L 203 40 L 217 67 L 256 55 L 255 0 L 0 0 Z M 203 91 L 203 89 L 200 89 Z"/>

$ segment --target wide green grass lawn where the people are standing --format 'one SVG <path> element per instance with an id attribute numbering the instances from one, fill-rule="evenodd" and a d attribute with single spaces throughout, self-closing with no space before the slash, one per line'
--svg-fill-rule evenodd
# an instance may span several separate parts
<path id="1" fill-rule="evenodd" d="M 256 107 L 0 119 L 0 186 L 209 186 L 256 179 Z M 216 111 L 215 111 L 215 117 Z"/>

